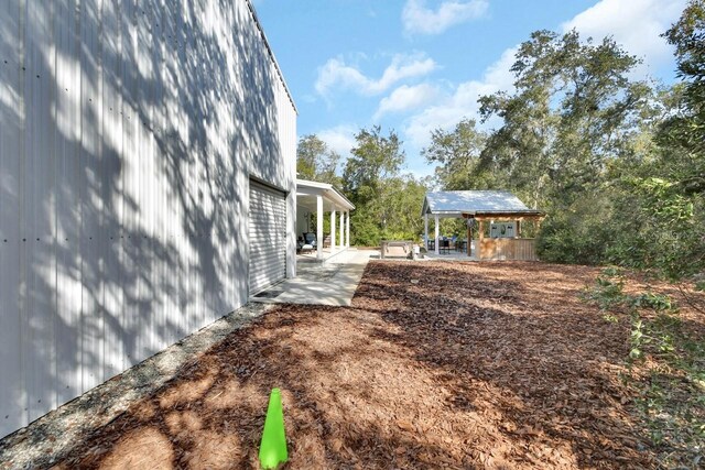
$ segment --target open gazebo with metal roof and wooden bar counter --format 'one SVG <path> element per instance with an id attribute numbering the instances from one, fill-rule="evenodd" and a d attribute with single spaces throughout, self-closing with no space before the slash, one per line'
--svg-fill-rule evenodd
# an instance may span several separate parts
<path id="1" fill-rule="evenodd" d="M 438 221 L 463 218 L 467 221 L 467 255 L 477 260 L 536 260 L 535 240 L 522 238 L 522 226 L 533 221 L 540 226 L 545 212 L 528 208 L 506 190 L 446 190 L 427 193 L 423 201 L 424 234 L 429 249 L 429 217 L 435 220 L 435 252 L 438 254 Z M 485 237 L 489 223 L 489 237 Z M 473 232 L 478 233 L 475 253 Z"/>

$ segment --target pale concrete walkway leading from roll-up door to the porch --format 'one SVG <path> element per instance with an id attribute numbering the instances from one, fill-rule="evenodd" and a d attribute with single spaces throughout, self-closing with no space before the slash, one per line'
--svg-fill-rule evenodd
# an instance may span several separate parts
<path id="1" fill-rule="evenodd" d="M 370 255 L 379 255 L 379 252 L 350 248 L 325 263 L 300 260 L 296 277 L 275 284 L 250 300 L 349 306 Z"/>

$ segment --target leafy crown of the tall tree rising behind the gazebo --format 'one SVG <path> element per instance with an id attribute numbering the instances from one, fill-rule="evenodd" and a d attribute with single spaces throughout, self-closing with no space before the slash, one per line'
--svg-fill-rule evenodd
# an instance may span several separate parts
<path id="1" fill-rule="evenodd" d="M 480 167 L 533 207 L 570 208 L 596 190 L 607 162 L 631 146 L 649 87 L 629 72 L 638 59 L 611 39 L 594 44 L 571 31 L 538 31 L 517 53 L 512 95 L 480 98 L 482 119 L 502 119 Z"/>

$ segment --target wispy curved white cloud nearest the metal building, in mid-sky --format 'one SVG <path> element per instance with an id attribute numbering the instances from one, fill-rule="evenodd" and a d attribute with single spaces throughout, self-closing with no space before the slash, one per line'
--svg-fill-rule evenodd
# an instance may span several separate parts
<path id="1" fill-rule="evenodd" d="M 361 95 L 377 95 L 400 80 L 427 75 L 435 68 L 436 63 L 424 54 L 398 54 L 392 57 L 382 76 L 372 79 L 337 57 L 329 59 L 321 67 L 315 88 L 322 96 L 327 96 L 336 86 L 354 89 Z"/>

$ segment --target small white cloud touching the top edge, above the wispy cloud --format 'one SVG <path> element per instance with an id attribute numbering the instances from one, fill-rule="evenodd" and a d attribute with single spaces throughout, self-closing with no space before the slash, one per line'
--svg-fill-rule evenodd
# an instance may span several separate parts
<path id="1" fill-rule="evenodd" d="M 426 7 L 425 0 L 408 0 L 401 20 L 406 33 L 440 34 L 455 24 L 481 17 L 487 8 L 487 0 L 447 0 L 434 11 Z"/>

